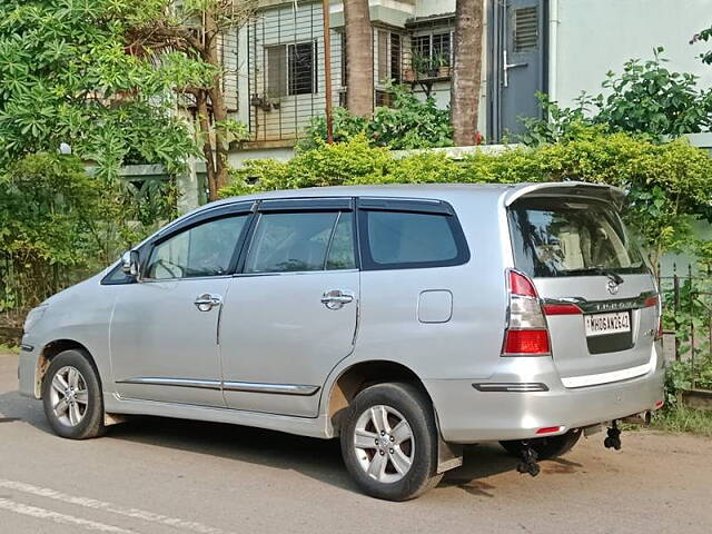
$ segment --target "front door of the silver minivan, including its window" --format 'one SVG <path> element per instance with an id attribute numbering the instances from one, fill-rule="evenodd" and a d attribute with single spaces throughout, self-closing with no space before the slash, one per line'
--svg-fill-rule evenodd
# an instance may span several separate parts
<path id="1" fill-rule="evenodd" d="M 218 319 L 249 217 L 224 210 L 147 245 L 141 280 L 118 288 L 111 320 L 119 395 L 225 406 Z"/>

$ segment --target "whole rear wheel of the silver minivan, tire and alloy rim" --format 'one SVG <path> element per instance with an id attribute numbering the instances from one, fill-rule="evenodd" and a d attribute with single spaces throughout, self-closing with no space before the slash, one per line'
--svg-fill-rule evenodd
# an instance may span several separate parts
<path id="1" fill-rule="evenodd" d="M 427 396 L 407 383 L 360 392 L 342 426 L 342 454 L 368 495 L 387 501 L 417 497 L 437 485 L 437 427 Z"/>

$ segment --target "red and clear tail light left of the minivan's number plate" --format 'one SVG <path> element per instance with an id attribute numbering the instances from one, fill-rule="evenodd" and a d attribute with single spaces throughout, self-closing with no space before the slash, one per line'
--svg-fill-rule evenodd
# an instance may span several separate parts
<path id="1" fill-rule="evenodd" d="M 545 356 L 551 354 L 548 330 L 532 280 L 516 270 L 507 271 L 510 312 L 502 356 Z"/>

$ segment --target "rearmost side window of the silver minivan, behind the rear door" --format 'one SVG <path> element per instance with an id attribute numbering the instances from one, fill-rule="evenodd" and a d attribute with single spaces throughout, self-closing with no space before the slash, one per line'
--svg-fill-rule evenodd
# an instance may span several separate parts
<path id="1" fill-rule="evenodd" d="M 363 210 L 359 217 L 366 269 L 445 267 L 468 259 L 462 229 L 452 215 Z"/>

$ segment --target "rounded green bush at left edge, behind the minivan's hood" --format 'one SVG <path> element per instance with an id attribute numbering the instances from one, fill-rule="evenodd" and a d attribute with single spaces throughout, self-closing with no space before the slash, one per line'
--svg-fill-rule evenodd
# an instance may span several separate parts
<path id="1" fill-rule="evenodd" d="M 0 314 L 17 309 L 21 318 L 106 265 L 89 265 L 101 256 L 105 199 L 101 180 L 73 156 L 27 155 L 0 175 Z"/>

